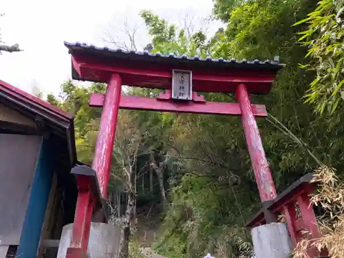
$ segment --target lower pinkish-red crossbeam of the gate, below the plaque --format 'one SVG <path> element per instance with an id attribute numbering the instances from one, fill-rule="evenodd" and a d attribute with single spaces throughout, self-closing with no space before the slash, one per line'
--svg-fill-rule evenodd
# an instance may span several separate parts
<path id="1" fill-rule="evenodd" d="M 105 94 L 92 94 L 89 100 L 89 105 L 92 107 L 105 107 L 104 101 Z M 147 98 L 140 96 L 120 96 L 119 107 L 121 109 L 151 110 L 175 113 L 218 114 L 231 116 L 241 115 L 241 109 L 238 103 L 203 103 Z M 252 112 L 254 116 L 267 116 L 264 105 L 252 105 Z"/>

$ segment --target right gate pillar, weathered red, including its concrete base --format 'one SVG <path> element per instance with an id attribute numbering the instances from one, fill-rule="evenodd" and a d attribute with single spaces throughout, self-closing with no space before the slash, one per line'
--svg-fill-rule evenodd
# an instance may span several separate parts
<path id="1" fill-rule="evenodd" d="M 239 84 L 235 92 L 241 108 L 241 120 L 244 127 L 250 160 L 257 182 L 262 206 L 266 206 L 277 197 L 268 160 L 264 152 L 255 116 L 252 114 L 250 98 L 246 86 Z M 265 209 L 268 224 L 252 228 L 252 242 L 255 258 L 287 258 L 292 250 L 288 229 L 283 223 L 277 223 L 274 214 Z"/>

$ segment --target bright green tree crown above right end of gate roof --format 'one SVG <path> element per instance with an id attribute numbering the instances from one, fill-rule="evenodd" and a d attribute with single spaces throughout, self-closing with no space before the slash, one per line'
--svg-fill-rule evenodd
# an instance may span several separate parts
<path id="1" fill-rule="evenodd" d="M 227 40 L 219 41 L 217 54 L 270 60 L 278 54 L 284 63 L 299 58 L 303 50 L 294 44 L 299 28 L 292 24 L 311 8 L 309 0 L 246 1 L 231 13 L 225 30 Z"/>

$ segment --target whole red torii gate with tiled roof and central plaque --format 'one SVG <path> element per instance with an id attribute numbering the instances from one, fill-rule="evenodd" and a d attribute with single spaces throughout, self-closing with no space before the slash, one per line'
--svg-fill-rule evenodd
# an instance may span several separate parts
<path id="1" fill-rule="evenodd" d="M 92 169 L 100 195 L 107 199 L 111 155 L 118 109 L 221 114 L 241 116 L 248 151 L 263 206 L 277 198 L 255 117 L 266 117 L 264 105 L 251 105 L 249 94 L 268 94 L 282 64 L 275 61 L 236 61 L 211 57 L 174 56 L 149 52 L 123 52 L 83 43 L 65 43 L 72 54 L 72 78 L 107 83 L 106 94 L 92 94 L 89 105 L 103 107 Z M 121 95 L 122 85 L 164 89 L 157 98 Z M 235 93 L 238 103 L 206 102 L 197 92 Z M 92 211 L 98 207 L 98 191 L 92 177 L 78 175 L 72 241 L 67 257 L 80 258 L 87 252 Z M 92 184 L 94 186 L 94 184 Z M 265 212 L 266 222 L 273 221 Z"/>

